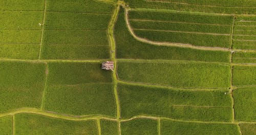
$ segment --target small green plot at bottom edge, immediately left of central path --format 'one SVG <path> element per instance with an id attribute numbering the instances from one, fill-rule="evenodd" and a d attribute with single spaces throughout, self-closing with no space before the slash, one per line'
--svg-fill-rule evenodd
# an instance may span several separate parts
<path id="1" fill-rule="evenodd" d="M 100 120 L 101 135 L 118 134 L 118 123 L 116 121 Z"/>

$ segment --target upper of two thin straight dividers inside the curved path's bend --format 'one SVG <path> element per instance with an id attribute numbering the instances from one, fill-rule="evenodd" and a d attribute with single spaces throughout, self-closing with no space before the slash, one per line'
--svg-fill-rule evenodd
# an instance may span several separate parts
<path id="1" fill-rule="evenodd" d="M 129 19 L 130 21 L 152 21 L 152 22 L 172 22 L 177 24 L 192 24 L 192 25 L 211 25 L 211 26 L 230 26 L 230 25 L 220 25 L 220 24 L 203 24 L 198 22 L 182 22 L 182 21 L 165 21 L 165 20 L 151 20 L 151 19 Z"/>

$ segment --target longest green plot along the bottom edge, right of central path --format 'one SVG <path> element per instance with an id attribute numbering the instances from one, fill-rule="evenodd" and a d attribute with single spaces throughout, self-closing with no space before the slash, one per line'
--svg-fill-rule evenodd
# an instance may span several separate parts
<path id="1" fill-rule="evenodd" d="M 188 123 L 161 120 L 160 125 L 162 135 L 240 134 L 238 126 L 235 124 Z"/>

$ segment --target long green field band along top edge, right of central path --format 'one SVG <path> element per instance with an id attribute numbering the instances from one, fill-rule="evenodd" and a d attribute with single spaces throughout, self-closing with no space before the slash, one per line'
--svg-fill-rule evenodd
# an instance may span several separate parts
<path id="1" fill-rule="evenodd" d="M 212 13 L 236 13 L 236 14 L 255 14 L 255 1 L 136 1 L 125 0 L 131 8 L 147 8 L 147 9 L 169 9 L 181 11 L 197 11 Z M 184 3 L 185 2 L 185 3 Z"/>

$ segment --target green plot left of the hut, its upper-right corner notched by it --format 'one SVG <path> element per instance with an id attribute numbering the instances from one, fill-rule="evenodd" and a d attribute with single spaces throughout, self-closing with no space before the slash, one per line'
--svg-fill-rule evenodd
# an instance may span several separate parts
<path id="1" fill-rule="evenodd" d="M 49 63 L 48 85 L 112 82 L 111 71 L 101 70 L 101 63 Z"/>

